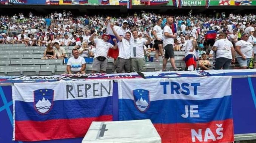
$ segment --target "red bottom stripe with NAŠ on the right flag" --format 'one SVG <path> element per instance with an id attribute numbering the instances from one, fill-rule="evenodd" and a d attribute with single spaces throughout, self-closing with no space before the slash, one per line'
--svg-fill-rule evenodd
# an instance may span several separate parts
<path id="1" fill-rule="evenodd" d="M 216 124 L 221 127 L 218 127 Z M 154 123 L 154 126 L 162 138 L 162 143 L 231 143 L 234 141 L 233 119 L 208 123 Z M 197 134 L 199 134 L 199 129 L 201 129 L 201 135 L 199 136 L 202 137 L 202 141 L 199 141 L 197 137 L 194 137 L 194 141 L 192 140 L 192 129 Z M 210 131 L 214 135 L 215 141 L 210 139 Z M 208 132 L 208 140 L 207 137 L 205 138 L 206 132 Z M 220 132 L 223 133 L 222 138 Z"/>

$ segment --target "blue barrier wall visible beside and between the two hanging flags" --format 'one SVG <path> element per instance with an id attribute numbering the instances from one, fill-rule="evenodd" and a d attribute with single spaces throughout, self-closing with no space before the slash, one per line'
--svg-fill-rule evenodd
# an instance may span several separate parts
<path id="1" fill-rule="evenodd" d="M 193 80 L 193 78 L 191 78 L 191 80 Z M 11 88 L 10 84 L 0 86 L 0 143 L 18 143 L 18 141 L 12 141 L 13 108 Z M 256 77 L 240 76 L 239 78 L 232 78 L 234 134 L 256 134 L 255 91 Z M 116 82 L 113 85 L 113 120 L 118 120 L 118 90 Z M 72 138 L 35 141 L 34 143 L 80 143 L 81 141 L 82 138 Z M 19 141 L 19 143 L 22 143 L 22 141 Z"/>

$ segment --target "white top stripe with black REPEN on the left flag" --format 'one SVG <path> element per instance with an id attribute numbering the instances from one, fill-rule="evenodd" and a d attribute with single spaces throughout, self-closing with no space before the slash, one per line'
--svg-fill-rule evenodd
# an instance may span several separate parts
<path id="1" fill-rule="evenodd" d="M 56 81 L 45 83 L 14 83 L 12 98 L 14 101 L 33 102 L 36 90 L 53 90 L 54 101 L 72 99 L 93 99 L 112 96 L 113 81 Z M 47 90 L 48 89 L 48 90 Z M 40 91 L 39 91 L 40 92 Z M 46 94 L 45 93 L 45 94 Z"/>

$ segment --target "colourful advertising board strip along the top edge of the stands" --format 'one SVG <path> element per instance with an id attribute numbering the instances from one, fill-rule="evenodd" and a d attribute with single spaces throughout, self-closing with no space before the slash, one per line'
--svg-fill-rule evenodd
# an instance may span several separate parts
<path id="1" fill-rule="evenodd" d="M 256 0 L 1 0 L 2 5 L 255 6 Z"/>

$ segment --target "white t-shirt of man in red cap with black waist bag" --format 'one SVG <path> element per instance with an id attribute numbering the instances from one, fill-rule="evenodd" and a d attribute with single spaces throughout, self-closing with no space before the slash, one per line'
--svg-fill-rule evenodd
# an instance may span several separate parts
<path id="1" fill-rule="evenodd" d="M 114 45 L 104 42 L 102 39 L 94 39 L 94 43 L 96 44 L 94 57 L 103 56 L 107 58 L 108 49 L 114 47 Z"/>

